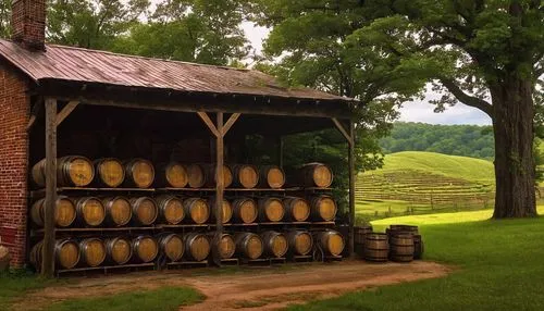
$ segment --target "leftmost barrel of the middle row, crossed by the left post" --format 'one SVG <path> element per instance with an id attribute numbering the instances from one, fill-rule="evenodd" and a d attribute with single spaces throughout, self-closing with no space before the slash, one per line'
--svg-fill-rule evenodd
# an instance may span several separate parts
<path id="1" fill-rule="evenodd" d="M 44 226 L 46 199 L 39 199 L 30 208 L 30 219 L 38 226 Z M 75 206 L 65 196 L 58 196 L 54 206 L 54 224 L 57 227 L 69 227 L 76 219 Z"/>

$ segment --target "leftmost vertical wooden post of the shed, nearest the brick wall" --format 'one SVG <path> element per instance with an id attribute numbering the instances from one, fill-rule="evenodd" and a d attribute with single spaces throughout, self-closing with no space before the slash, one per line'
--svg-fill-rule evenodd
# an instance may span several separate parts
<path id="1" fill-rule="evenodd" d="M 54 208 L 57 201 L 57 100 L 46 99 L 46 202 L 41 276 L 54 275 Z"/>

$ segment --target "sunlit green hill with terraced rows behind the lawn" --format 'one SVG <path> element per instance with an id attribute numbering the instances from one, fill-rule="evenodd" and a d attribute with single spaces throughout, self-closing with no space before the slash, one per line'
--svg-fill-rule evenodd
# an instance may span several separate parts
<path id="1" fill-rule="evenodd" d="M 434 152 L 387 154 L 383 169 L 359 174 L 357 213 L 361 219 L 490 208 L 493 163 Z"/>

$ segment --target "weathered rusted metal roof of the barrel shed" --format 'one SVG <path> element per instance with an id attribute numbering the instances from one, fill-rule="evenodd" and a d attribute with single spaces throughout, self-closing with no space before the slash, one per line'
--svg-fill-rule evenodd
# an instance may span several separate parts
<path id="1" fill-rule="evenodd" d="M 36 83 L 58 79 L 176 91 L 239 94 L 316 100 L 351 100 L 310 88 L 287 88 L 274 77 L 254 70 L 115 54 L 47 45 L 29 51 L 0 39 L 0 55 Z"/>

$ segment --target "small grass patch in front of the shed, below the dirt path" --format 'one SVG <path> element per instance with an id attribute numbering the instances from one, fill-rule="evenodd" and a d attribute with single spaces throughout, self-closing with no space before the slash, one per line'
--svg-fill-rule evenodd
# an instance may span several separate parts
<path id="1" fill-rule="evenodd" d="M 65 300 L 53 303 L 48 311 L 176 311 L 181 306 L 193 304 L 203 299 L 197 290 L 188 287 L 162 287 L 147 291 L 123 293 L 113 296 Z"/>

